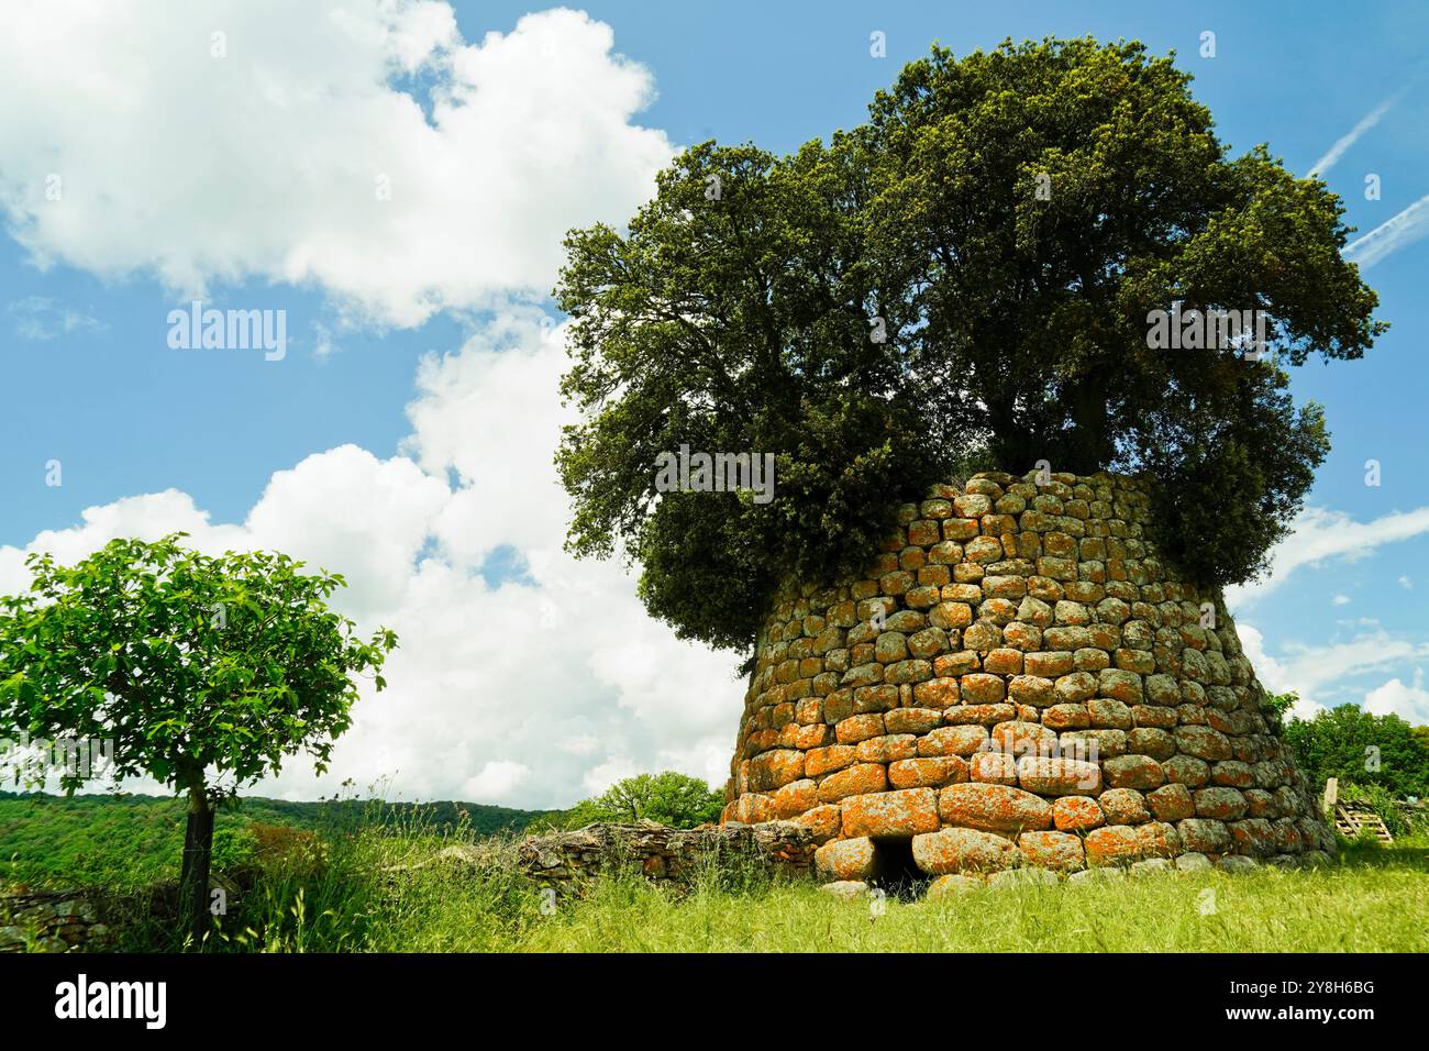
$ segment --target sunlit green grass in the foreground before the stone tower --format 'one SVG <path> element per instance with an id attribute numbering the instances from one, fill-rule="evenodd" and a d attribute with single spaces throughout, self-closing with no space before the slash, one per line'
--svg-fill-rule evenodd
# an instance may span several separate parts
<path id="1" fill-rule="evenodd" d="M 1147 877 L 842 902 L 809 885 L 600 884 L 552 915 L 519 891 L 436 879 L 377 919 L 372 948 L 534 952 L 1368 952 L 1429 949 L 1429 849 L 1355 849 L 1320 871 Z"/>

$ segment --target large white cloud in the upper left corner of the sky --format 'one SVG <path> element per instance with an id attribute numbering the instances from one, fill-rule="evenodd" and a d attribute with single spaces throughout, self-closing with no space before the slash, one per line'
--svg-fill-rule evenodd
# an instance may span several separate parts
<path id="1" fill-rule="evenodd" d="M 613 43 L 570 10 L 467 43 L 433 0 L 14 7 L 0 214 L 41 266 L 183 296 L 313 283 L 399 326 L 540 299 L 566 230 L 623 222 L 672 154 Z"/>

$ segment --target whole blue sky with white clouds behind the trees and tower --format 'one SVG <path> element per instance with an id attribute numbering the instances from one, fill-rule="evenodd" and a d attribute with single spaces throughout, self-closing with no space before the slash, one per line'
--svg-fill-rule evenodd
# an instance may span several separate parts
<path id="1" fill-rule="evenodd" d="M 1235 152 L 1266 142 L 1308 173 L 1349 136 L 1323 177 L 1359 235 L 1408 213 L 1359 249 L 1393 329 L 1362 362 L 1295 373 L 1335 450 L 1273 578 L 1232 599 L 1269 686 L 1429 721 L 1429 204 L 1412 210 L 1429 196 L 1429 9 L 593 3 L 519 24 L 547 9 L 309 7 L 4 16 L 0 92 L 26 103 L 0 114 L 0 583 L 27 548 L 77 555 L 116 531 L 282 542 L 349 569 L 354 615 L 436 636 L 404 658 L 420 686 L 359 714 L 337 774 L 512 805 L 660 765 L 717 779 L 729 659 L 640 625 L 613 568 L 559 555 L 554 240 L 629 216 L 683 144 L 787 150 L 857 123 L 935 40 L 1090 33 L 1175 49 Z M 387 173 L 394 207 L 373 212 Z M 170 349 L 167 315 L 193 295 L 286 310 L 283 360 Z M 587 638 L 596 621 L 609 638 Z M 490 716 L 497 694 L 514 715 Z M 552 722 L 569 725 L 557 755 Z M 314 795 L 284 776 L 273 791 Z"/>

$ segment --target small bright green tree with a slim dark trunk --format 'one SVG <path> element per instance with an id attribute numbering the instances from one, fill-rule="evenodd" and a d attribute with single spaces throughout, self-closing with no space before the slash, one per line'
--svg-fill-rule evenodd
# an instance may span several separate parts
<path id="1" fill-rule="evenodd" d="M 0 731 L 111 742 L 116 781 L 147 774 L 189 798 L 181 899 L 209 929 L 214 805 L 306 751 L 326 769 L 352 725 L 353 676 L 386 684 L 397 636 L 356 636 L 326 601 L 342 576 L 270 552 L 209 556 L 111 541 L 66 568 L 26 561 L 30 591 L 0 599 Z M 84 771 L 66 769 L 73 792 Z"/>

